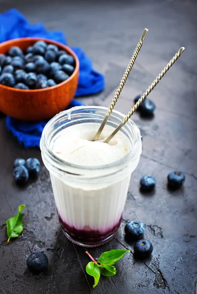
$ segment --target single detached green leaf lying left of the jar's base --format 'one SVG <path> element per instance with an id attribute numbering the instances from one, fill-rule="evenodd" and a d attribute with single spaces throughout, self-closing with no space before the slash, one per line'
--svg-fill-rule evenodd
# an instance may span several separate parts
<path id="1" fill-rule="evenodd" d="M 6 221 L 8 235 L 7 243 L 9 243 L 10 238 L 19 237 L 19 235 L 23 232 L 23 216 L 21 214 L 21 211 L 24 208 L 25 205 L 21 204 L 19 206 L 18 214 Z"/>

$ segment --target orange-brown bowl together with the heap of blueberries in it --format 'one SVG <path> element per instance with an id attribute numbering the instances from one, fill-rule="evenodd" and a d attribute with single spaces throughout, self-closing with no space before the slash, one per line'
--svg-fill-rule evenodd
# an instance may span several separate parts
<path id="1" fill-rule="evenodd" d="M 69 47 L 41 38 L 0 44 L 0 111 L 39 121 L 64 110 L 74 98 L 79 61 Z"/>

